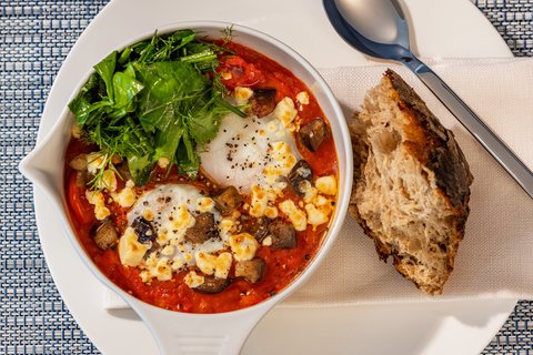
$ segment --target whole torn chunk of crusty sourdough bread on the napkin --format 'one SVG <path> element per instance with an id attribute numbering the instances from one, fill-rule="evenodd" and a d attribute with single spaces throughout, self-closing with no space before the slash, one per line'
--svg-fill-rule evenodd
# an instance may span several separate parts
<path id="1" fill-rule="evenodd" d="M 469 164 L 454 139 L 403 79 L 388 70 L 350 124 L 351 214 L 381 260 L 430 295 L 453 270 L 469 215 Z"/>

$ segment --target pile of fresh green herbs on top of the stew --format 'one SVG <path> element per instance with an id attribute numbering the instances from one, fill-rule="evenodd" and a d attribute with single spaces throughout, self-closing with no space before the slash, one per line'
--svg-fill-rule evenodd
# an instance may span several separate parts
<path id="1" fill-rule="evenodd" d="M 177 164 L 194 179 L 197 145 L 217 135 L 222 115 L 244 116 L 223 99 L 225 88 L 215 72 L 223 52 L 199 41 L 197 32 L 180 30 L 155 33 L 94 65 L 69 108 L 83 139 L 107 158 L 102 169 L 114 170 L 111 158 L 119 155 L 138 185 L 148 182 L 158 161 Z M 99 185 L 93 181 L 93 187 Z"/>

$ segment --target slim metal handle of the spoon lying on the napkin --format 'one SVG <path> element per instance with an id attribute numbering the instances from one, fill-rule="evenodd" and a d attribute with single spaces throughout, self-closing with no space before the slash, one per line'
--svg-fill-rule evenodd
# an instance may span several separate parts
<path id="1" fill-rule="evenodd" d="M 481 145 L 533 199 L 533 172 L 527 169 L 513 151 L 426 64 L 414 55 L 404 58 L 402 62 L 420 78 L 463 126 L 475 136 Z"/>

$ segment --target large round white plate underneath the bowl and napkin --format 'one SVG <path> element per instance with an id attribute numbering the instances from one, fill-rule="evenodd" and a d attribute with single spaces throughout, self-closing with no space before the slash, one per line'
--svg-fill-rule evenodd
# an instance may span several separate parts
<path id="1" fill-rule="evenodd" d="M 422 57 L 512 57 L 469 0 L 405 0 Z M 191 20 L 253 27 L 293 47 L 318 68 L 371 65 L 332 30 L 320 0 L 113 0 L 91 22 L 59 72 L 44 108 L 39 139 L 52 126 L 88 68 L 135 33 Z M 453 23 L 453 24 L 452 24 Z M 84 72 L 82 70 L 81 72 Z M 104 354 L 157 354 L 148 328 L 129 310 L 102 308 L 103 286 L 82 264 L 47 200 L 34 191 L 41 245 L 53 280 L 76 321 Z M 242 354 L 480 353 L 516 300 L 356 307 L 276 307 L 253 331 Z"/>

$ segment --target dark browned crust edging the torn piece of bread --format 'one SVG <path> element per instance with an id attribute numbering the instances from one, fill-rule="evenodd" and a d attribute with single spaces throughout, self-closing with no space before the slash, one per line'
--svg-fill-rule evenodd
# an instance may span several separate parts
<path id="1" fill-rule="evenodd" d="M 373 152 L 364 139 L 364 128 L 361 126 L 358 116 L 350 124 L 354 152 L 354 185 L 349 211 L 363 227 L 364 233 L 374 240 L 375 250 L 381 260 L 386 262 L 392 256 L 394 267 L 404 277 L 430 295 L 440 294 L 453 270 L 455 254 L 464 236 L 473 176 L 453 132 L 441 124 L 423 100 L 398 73 L 386 70 L 381 85 L 389 88 L 388 94 L 404 113 L 404 118 L 408 118 L 409 122 L 402 126 L 403 149 L 428 171 L 433 172 L 435 193 L 441 195 L 447 205 L 446 223 L 450 235 L 446 245 L 441 245 L 446 253 L 445 272 L 433 275 L 430 280 L 419 277 L 415 266 L 420 262 L 413 255 L 401 253 L 394 245 L 384 242 L 380 233 L 376 233 L 362 217 L 358 199 L 361 199 L 361 189 L 365 189 L 364 168 Z"/>

